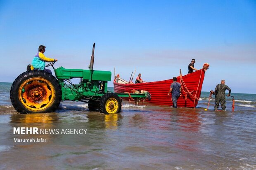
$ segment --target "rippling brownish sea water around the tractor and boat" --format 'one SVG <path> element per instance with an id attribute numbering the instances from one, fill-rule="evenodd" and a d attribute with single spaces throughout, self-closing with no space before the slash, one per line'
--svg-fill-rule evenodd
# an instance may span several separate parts
<path id="1" fill-rule="evenodd" d="M 256 168 L 255 94 L 231 93 L 234 112 L 232 97 L 226 97 L 226 112 L 215 112 L 212 99 L 205 111 L 210 93 L 202 92 L 195 109 L 125 101 L 123 112 L 105 115 L 89 112 L 86 103 L 65 101 L 54 113 L 19 114 L 10 86 L 0 83 L 0 169 Z M 36 127 L 44 134 L 17 135 L 14 127 Z M 85 133 L 70 134 L 80 129 Z"/>

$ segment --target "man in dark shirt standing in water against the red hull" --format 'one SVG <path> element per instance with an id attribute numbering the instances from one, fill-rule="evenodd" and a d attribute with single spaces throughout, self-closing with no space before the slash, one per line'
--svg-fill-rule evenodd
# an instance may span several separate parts
<path id="1" fill-rule="evenodd" d="M 181 96 L 181 86 L 180 83 L 177 82 L 177 77 L 173 77 L 173 83 L 171 84 L 171 88 L 167 95 L 170 95 L 173 101 L 173 107 L 177 108 L 177 100 Z"/>

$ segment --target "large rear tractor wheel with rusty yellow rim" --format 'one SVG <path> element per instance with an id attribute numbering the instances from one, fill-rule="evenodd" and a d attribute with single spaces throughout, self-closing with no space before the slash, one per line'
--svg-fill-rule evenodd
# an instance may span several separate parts
<path id="1" fill-rule="evenodd" d="M 53 75 L 32 70 L 14 80 L 10 98 L 13 107 L 20 113 L 54 112 L 62 99 L 62 91 Z"/>

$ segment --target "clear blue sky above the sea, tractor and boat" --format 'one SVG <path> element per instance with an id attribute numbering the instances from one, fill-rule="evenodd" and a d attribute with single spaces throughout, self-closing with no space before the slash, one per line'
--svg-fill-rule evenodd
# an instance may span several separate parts
<path id="1" fill-rule="evenodd" d="M 255 0 L 0 0 L 0 82 L 41 44 L 55 68 L 88 69 L 93 42 L 94 69 L 112 77 L 170 79 L 195 58 L 197 69 L 210 64 L 202 91 L 225 79 L 233 93 L 256 93 Z"/>

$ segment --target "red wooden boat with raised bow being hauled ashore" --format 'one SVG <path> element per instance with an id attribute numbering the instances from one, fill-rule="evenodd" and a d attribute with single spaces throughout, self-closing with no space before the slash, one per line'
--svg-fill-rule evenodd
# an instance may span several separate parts
<path id="1" fill-rule="evenodd" d="M 201 70 L 192 72 L 190 74 L 177 77 L 177 82 L 181 84 L 182 96 L 178 99 L 178 107 L 196 107 L 201 95 L 201 88 L 204 82 L 204 74 L 209 68 L 209 64 L 205 63 Z M 181 72 L 181 71 L 180 71 Z M 128 92 L 131 90 L 145 90 L 151 94 L 151 100 L 147 102 L 154 103 L 156 105 L 173 105 L 171 101 L 171 94 L 168 96 L 167 93 L 170 90 L 173 79 L 158 81 L 158 82 L 147 82 L 147 83 L 116 83 L 114 81 L 115 93 Z"/>

